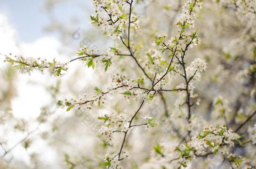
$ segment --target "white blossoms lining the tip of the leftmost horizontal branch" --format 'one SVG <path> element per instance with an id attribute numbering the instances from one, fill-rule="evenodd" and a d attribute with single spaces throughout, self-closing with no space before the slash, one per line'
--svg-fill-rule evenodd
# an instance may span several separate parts
<path id="1" fill-rule="evenodd" d="M 31 74 L 34 70 L 39 70 L 41 73 L 44 73 L 44 69 L 48 69 L 48 72 L 52 76 L 61 76 L 63 71 L 68 71 L 68 63 L 60 63 L 53 59 L 52 62 L 47 61 L 46 59 L 42 60 L 41 58 L 25 58 L 21 55 L 15 55 L 14 59 L 6 56 L 5 61 L 12 63 L 21 73 Z"/>

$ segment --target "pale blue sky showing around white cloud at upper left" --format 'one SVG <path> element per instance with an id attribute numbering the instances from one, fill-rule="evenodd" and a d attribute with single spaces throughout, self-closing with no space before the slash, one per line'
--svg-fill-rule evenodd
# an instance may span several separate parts
<path id="1" fill-rule="evenodd" d="M 0 0 L 0 13 L 8 17 L 10 25 L 17 30 L 18 38 L 23 42 L 30 43 L 45 35 L 58 38 L 56 33 L 43 31 L 50 22 L 43 5 L 44 0 Z M 67 23 L 74 16 L 82 16 L 85 19 L 78 26 L 85 29 L 89 26 L 85 14 L 88 16 L 92 11 L 90 0 L 73 0 L 58 5 L 54 14 L 58 20 Z M 74 26 L 74 30 L 78 26 Z"/>

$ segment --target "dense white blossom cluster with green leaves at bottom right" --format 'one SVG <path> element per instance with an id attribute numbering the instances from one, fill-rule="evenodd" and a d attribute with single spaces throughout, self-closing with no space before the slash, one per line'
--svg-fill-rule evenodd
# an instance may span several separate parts
<path id="1" fill-rule="evenodd" d="M 187 162 L 196 156 L 204 156 L 209 154 L 206 150 L 210 149 L 212 153 L 217 154 L 221 152 L 225 158 L 235 161 L 235 165 L 240 165 L 240 157 L 230 152 L 230 147 L 238 142 L 240 145 L 243 136 L 239 136 L 231 129 L 227 130 L 222 127 L 207 127 L 200 134 L 196 134 L 191 138 L 191 141 L 183 144 L 180 147 L 176 147 L 176 151 L 180 153 L 180 157 L 183 158 L 181 162 L 182 166 L 187 166 Z M 207 148 L 207 149 L 206 149 Z"/>

